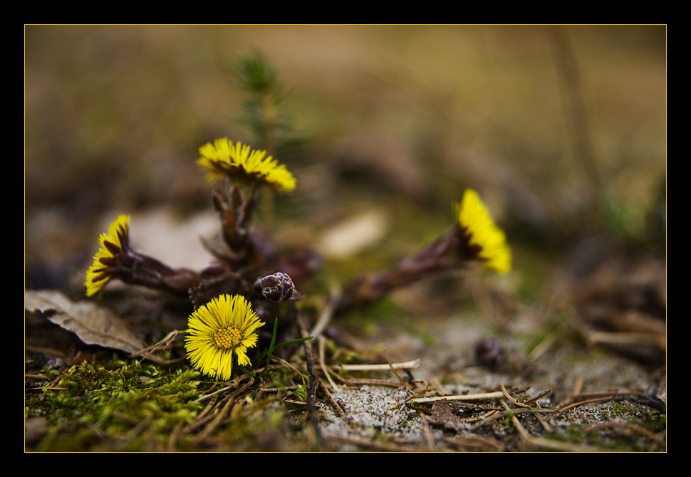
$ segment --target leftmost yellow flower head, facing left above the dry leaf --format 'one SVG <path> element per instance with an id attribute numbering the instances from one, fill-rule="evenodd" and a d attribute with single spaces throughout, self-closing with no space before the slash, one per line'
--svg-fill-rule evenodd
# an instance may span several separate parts
<path id="1" fill-rule="evenodd" d="M 115 267 L 115 254 L 129 246 L 130 216 L 120 215 L 110 224 L 108 234 L 100 234 L 100 248 L 93 256 L 93 265 L 86 271 L 86 296 L 103 292 L 110 281 L 108 271 Z"/>

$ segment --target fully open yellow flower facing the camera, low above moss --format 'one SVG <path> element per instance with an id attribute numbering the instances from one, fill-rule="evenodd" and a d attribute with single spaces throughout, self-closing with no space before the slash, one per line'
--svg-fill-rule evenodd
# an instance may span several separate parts
<path id="1" fill-rule="evenodd" d="M 233 369 L 233 354 L 241 366 L 251 364 L 247 348 L 256 345 L 259 321 L 242 295 L 220 295 L 200 306 L 187 323 L 185 350 L 192 366 L 207 376 L 227 380 Z"/>

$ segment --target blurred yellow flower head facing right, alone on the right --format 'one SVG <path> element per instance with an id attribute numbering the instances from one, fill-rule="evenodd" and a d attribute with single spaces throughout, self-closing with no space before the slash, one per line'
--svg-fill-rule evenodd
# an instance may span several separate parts
<path id="1" fill-rule="evenodd" d="M 494 224 L 487 207 L 473 189 L 465 189 L 460 204 L 455 205 L 456 224 L 466 248 L 485 268 L 497 273 L 511 270 L 511 248 L 506 235 Z"/>

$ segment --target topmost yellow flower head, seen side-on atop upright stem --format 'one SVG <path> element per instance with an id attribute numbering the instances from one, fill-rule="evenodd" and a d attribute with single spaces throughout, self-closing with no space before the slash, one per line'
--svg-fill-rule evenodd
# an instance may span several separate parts
<path id="1" fill-rule="evenodd" d="M 266 151 L 253 151 L 239 141 L 233 145 L 223 137 L 213 144 L 207 142 L 199 147 L 199 156 L 197 164 L 206 169 L 209 182 L 229 176 L 232 179 L 258 180 L 284 192 L 295 189 L 295 177 L 286 166 L 271 156 L 266 157 Z"/>

